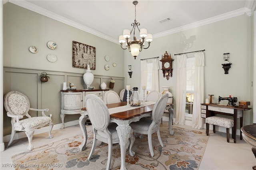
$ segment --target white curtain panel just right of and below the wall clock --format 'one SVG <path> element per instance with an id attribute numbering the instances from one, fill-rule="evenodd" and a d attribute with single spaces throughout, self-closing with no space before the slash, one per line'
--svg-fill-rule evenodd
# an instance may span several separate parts
<path id="1" fill-rule="evenodd" d="M 185 123 L 185 106 L 186 106 L 186 63 L 187 55 L 177 56 L 177 97 L 176 97 L 176 124 L 184 125 Z"/>

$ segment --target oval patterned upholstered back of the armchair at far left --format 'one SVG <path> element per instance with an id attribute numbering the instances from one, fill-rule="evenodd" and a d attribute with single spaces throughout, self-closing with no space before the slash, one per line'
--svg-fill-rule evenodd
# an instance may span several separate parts
<path id="1" fill-rule="evenodd" d="M 10 91 L 4 96 L 4 108 L 12 115 L 26 115 L 30 109 L 30 102 L 26 95 L 18 91 Z"/>

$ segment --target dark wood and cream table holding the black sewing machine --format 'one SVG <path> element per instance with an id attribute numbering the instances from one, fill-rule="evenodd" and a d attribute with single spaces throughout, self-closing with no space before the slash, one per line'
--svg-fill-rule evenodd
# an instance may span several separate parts
<path id="1" fill-rule="evenodd" d="M 234 143 L 236 143 L 236 127 L 237 119 L 240 118 L 240 129 L 243 126 L 243 111 L 248 111 L 252 108 L 238 108 L 238 106 L 226 106 L 221 104 L 201 104 L 201 117 L 206 118 L 215 116 L 216 114 L 232 116 L 234 119 Z M 240 140 L 242 140 L 242 131 L 240 130 Z"/>

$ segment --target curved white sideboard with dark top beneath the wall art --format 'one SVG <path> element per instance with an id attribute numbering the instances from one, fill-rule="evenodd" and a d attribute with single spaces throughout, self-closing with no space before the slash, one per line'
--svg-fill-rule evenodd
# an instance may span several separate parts
<path id="1" fill-rule="evenodd" d="M 100 99 L 104 99 L 105 91 L 109 89 L 81 89 L 81 90 L 61 90 L 61 110 L 60 110 L 60 118 L 61 118 L 61 129 L 65 127 L 64 118 L 66 115 L 75 115 L 82 114 L 84 111 L 81 109 L 85 107 L 84 99 L 88 94 L 94 94 L 100 97 Z"/>

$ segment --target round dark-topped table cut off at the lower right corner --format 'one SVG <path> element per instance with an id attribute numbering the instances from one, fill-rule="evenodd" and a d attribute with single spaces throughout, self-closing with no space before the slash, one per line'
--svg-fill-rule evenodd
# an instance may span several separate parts
<path id="1" fill-rule="evenodd" d="M 252 152 L 256 158 L 256 124 L 243 126 L 241 131 L 244 141 L 252 146 Z M 252 169 L 256 170 L 256 165 L 252 166 Z"/>

